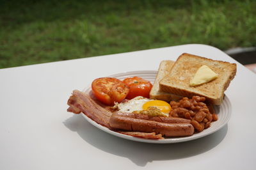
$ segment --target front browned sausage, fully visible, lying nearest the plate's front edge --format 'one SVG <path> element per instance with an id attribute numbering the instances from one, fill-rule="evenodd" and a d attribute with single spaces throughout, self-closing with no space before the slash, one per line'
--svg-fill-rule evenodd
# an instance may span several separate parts
<path id="1" fill-rule="evenodd" d="M 190 123 L 162 123 L 118 114 L 111 116 L 109 126 L 135 132 L 156 132 L 156 134 L 162 134 L 166 137 L 189 136 L 194 133 L 194 127 Z"/>

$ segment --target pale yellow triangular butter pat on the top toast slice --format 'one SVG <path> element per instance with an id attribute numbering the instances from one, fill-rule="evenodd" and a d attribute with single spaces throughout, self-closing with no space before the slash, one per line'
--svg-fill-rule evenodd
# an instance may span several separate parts
<path id="1" fill-rule="evenodd" d="M 198 86 L 218 77 L 218 74 L 213 72 L 209 66 L 203 65 L 195 73 L 195 76 L 190 81 L 189 86 Z"/>

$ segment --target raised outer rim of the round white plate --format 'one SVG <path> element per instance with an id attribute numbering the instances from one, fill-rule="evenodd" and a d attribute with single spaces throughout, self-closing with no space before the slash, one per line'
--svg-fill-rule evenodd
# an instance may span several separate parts
<path id="1" fill-rule="evenodd" d="M 120 76 L 125 76 L 127 74 L 130 75 L 130 74 L 134 74 L 134 73 L 145 73 L 145 74 L 153 73 L 153 74 L 157 75 L 156 70 L 138 70 L 138 71 L 131 71 L 131 72 L 115 73 L 115 74 L 112 74 L 112 75 L 108 75 L 107 77 L 116 77 L 116 76 L 120 77 Z M 131 76 L 135 76 L 135 75 L 131 75 Z M 91 91 L 91 90 L 92 90 L 91 86 L 88 86 L 88 87 L 83 89 L 83 92 L 86 93 L 86 91 Z M 231 105 L 231 102 L 230 102 L 229 98 L 227 97 L 227 95 L 225 95 L 223 102 L 227 103 L 228 114 L 227 114 L 227 118 L 225 119 L 225 121 L 219 127 L 214 128 L 214 130 L 211 130 L 209 132 L 204 132 L 201 135 L 193 134 L 193 135 L 187 136 L 187 137 L 168 137 L 168 138 L 165 138 L 165 139 L 144 139 L 144 138 L 141 138 L 141 137 L 133 137 L 131 135 L 120 134 L 118 132 L 110 130 L 109 128 L 104 127 L 104 126 L 98 124 L 97 122 L 93 121 L 91 118 L 88 118 L 85 114 L 82 114 L 82 115 L 83 115 L 83 118 L 85 118 L 87 121 L 89 121 L 93 126 L 99 128 L 100 130 L 103 130 L 104 132 L 107 132 L 108 134 L 115 135 L 116 137 L 121 137 L 123 139 L 128 139 L 128 140 L 131 140 L 131 141 L 137 141 L 137 142 L 142 142 L 142 143 L 157 143 L 157 144 L 182 143 L 182 142 L 192 141 L 192 140 L 199 139 L 201 137 L 205 137 L 207 135 L 213 134 L 214 132 L 217 132 L 218 130 L 223 128 L 225 125 L 227 125 L 227 123 L 228 123 L 228 121 L 230 120 L 230 117 L 231 117 L 232 105 Z M 214 107 L 216 107 L 216 105 L 214 105 Z M 221 105 L 220 105 L 220 107 L 221 107 Z M 198 134 L 200 134 L 200 133 L 198 133 Z"/>

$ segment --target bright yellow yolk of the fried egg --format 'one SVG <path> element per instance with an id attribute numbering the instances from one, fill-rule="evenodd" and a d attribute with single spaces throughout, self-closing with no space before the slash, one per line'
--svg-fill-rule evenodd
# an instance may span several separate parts
<path id="1" fill-rule="evenodd" d="M 142 109 L 147 110 L 148 107 L 157 107 L 161 112 L 169 113 L 171 111 L 171 106 L 163 100 L 150 100 L 143 104 Z"/>

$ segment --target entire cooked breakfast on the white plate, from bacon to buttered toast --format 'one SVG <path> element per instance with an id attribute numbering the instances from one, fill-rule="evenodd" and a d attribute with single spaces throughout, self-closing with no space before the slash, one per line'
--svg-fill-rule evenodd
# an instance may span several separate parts
<path id="1" fill-rule="evenodd" d="M 221 104 L 235 74 L 236 64 L 182 54 L 160 63 L 153 86 L 140 77 L 95 79 L 90 95 L 73 91 L 68 111 L 134 137 L 189 136 L 218 120 L 212 105 Z"/>

